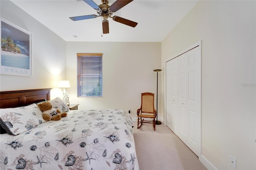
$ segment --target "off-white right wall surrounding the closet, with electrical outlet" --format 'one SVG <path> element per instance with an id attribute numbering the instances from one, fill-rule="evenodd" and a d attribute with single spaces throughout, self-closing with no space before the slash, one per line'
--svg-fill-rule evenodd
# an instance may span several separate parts
<path id="1" fill-rule="evenodd" d="M 202 162 L 256 169 L 256 1 L 199 1 L 162 41 L 162 68 L 202 40 Z M 165 71 L 162 71 L 165 94 Z M 165 95 L 162 96 L 163 113 Z"/>

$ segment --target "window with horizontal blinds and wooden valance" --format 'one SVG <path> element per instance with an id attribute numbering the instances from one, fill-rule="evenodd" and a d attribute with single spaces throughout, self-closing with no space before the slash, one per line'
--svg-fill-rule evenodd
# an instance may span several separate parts
<path id="1" fill-rule="evenodd" d="M 102 97 L 102 53 L 77 53 L 77 96 Z"/>

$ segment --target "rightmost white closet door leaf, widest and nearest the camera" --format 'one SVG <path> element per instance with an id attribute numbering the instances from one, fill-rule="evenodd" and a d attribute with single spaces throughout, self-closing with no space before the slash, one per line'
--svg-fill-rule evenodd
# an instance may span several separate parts
<path id="1" fill-rule="evenodd" d="M 187 53 L 187 112 L 188 138 L 186 145 L 196 154 L 200 151 L 201 128 L 201 57 L 200 48 L 196 47 Z M 199 156 L 199 155 L 198 155 Z"/>

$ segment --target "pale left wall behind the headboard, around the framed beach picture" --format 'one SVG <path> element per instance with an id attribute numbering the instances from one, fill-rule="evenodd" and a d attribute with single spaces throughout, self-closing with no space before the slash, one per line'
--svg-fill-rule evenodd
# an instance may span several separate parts
<path id="1" fill-rule="evenodd" d="M 9 0 L 0 1 L 0 16 L 32 34 L 32 77 L 0 75 L 0 91 L 54 88 L 66 76 L 66 42 Z M 1 36 L 2 37 L 2 36 Z"/>

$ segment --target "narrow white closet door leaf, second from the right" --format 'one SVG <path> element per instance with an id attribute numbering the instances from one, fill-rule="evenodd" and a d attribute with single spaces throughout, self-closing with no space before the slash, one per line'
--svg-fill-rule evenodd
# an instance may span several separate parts
<path id="1" fill-rule="evenodd" d="M 178 127 L 179 138 L 186 144 L 188 133 L 187 114 L 187 55 L 178 58 Z"/>

